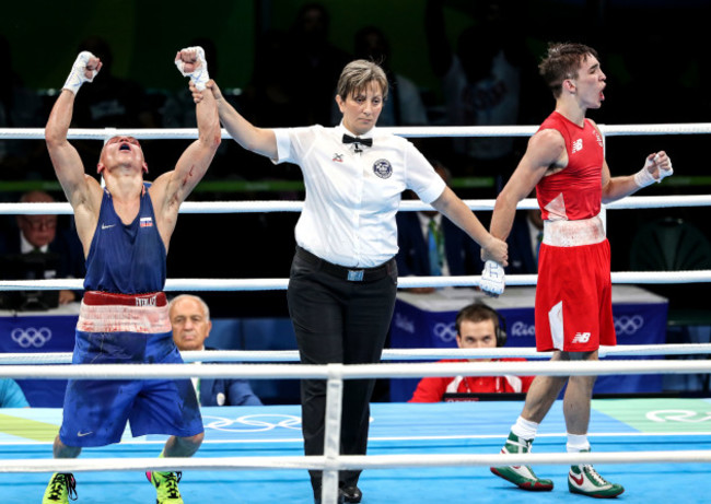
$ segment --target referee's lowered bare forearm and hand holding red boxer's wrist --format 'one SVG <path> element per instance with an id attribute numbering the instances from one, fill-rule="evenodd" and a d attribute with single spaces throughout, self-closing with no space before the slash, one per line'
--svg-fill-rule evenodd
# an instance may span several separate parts
<path id="1" fill-rule="evenodd" d="M 506 243 L 489 234 L 474 212 L 448 187 L 432 202 L 440 213 L 461 227 L 471 239 L 478 243 L 487 259 L 508 265 Z"/>

